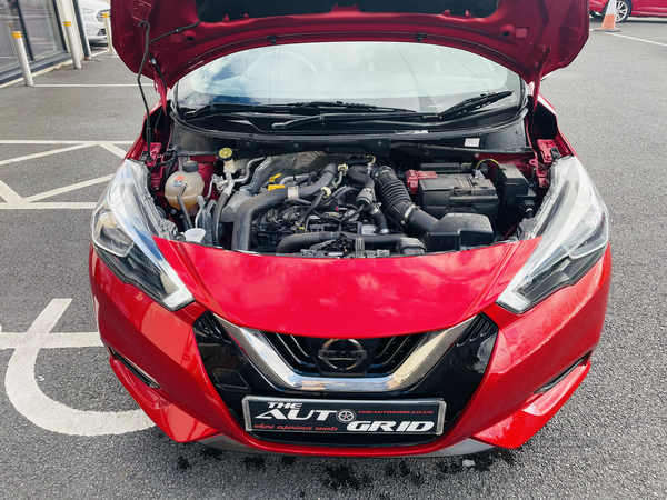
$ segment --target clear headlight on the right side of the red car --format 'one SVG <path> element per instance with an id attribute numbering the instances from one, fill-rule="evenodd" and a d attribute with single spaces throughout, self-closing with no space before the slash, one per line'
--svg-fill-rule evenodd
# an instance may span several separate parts
<path id="1" fill-rule="evenodd" d="M 576 157 L 551 167 L 551 188 L 522 239 L 541 237 L 528 262 L 498 303 L 521 313 L 556 290 L 575 283 L 609 242 L 605 203 Z"/>

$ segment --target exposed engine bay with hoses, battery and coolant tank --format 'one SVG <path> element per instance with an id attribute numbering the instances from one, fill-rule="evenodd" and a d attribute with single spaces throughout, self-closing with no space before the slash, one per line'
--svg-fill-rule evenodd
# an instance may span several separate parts
<path id="1" fill-rule="evenodd" d="M 548 189 L 545 154 L 376 158 L 306 151 L 147 161 L 176 238 L 232 251 L 320 258 L 419 256 L 517 238 Z M 152 164 L 151 164 L 152 163 Z"/>

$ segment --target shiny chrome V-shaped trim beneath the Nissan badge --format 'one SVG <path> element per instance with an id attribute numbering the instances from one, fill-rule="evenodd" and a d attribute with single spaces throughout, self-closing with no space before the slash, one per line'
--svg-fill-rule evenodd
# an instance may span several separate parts
<path id="1" fill-rule="evenodd" d="M 299 391 L 389 392 L 416 384 L 438 363 L 475 318 L 447 330 L 425 333 L 410 356 L 385 377 L 331 378 L 295 372 L 276 352 L 263 332 L 237 327 L 216 316 L 220 324 L 241 347 L 248 359 L 269 381 Z"/>

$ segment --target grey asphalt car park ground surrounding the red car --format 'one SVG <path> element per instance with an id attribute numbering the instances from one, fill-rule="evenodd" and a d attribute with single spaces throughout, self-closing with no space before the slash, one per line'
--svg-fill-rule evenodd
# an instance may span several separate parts
<path id="1" fill-rule="evenodd" d="M 542 86 L 610 210 L 614 278 L 593 370 L 527 444 L 471 457 L 472 467 L 217 452 L 155 427 L 91 436 L 89 417 L 138 414 L 94 341 L 87 252 L 90 207 L 139 133 L 142 103 L 131 86 L 0 89 L 0 194 L 13 200 L 0 210 L 0 324 L 19 339 L 0 338 L 0 498 L 666 498 L 667 21 L 621 29 L 591 32 Z M 118 58 L 98 56 L 36 83 L 135 78 Z M 71 189 L 90 180 L 99 181 Z M 41 209 L 21 201 L 57 189 L 34 201 L 51 203 Z M 36 340 L 46 331 L 64 334 L 49 347 Z M 145 423 L 138 417 L 126 430 Z"/>

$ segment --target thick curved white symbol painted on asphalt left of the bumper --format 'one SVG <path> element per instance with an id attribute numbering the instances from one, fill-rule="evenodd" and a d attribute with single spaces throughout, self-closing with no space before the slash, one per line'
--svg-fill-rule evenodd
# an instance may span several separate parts
<path id="1" fill-rule="evenodd" d="M 42 392 L 34 379 L 34 366 L 39 350 L 53 348 L 98 347 L 99 336 L 91 333 L 52 334 L 51 329 L 69 307 L 71 299 L 53 299 L 34 320 L 27 333 L 0 333 L 0 349 L 6 339 L 21 337 L 22 344 L 14 347 L 7 373 L 4 389 L 14 408 L 42 429 L 70 436 L 122 434 L 153 427 L 153 422 L 141 410 L 83 411 L 52 400 Z M 90 344 L 86 344 L 86 340 Z"/>

